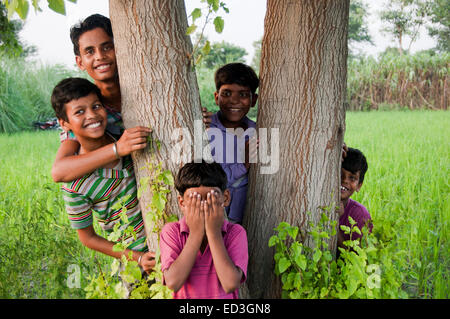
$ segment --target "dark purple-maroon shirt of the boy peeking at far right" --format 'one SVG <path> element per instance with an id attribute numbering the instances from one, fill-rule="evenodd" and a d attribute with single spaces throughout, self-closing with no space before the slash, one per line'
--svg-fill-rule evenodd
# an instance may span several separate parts
<path id="1" fill-rule="evenodd" d="M 372 231 L 373 225 L 370 222 L 370 220 L 372 218 L 370 217 L 370 214 L 367 211 L 367 209 L 363 205 L 358 203 L 357 201 L 354 201 L 353 199 L 349 198 L 348 202 L 347 202 L 347 206 L 345 206 L 345 209 L 344 209 L 344 214 L 342 214 L 342 216 L 339 217 L 339 231 L 343 235 L 344 240 L 350 240 L 350 235 L 345 234 L 344 231 L 341 230 L 340 226 L 344 225 L 344 226 L 351 227 L 350 222 L 348 221 L 349 216 L 355 220 L 356 226 L 358 226 L 358 228 L 360 230 L 362 230 L 362 228 L 367 223 L 368 227 L 369 227 L 369 231 L 370 232 Z M 353 233 L 352 233 L 353 240 L 361 238 L 361 236 L 362 235 L 356 233 L 355 231 L 353 231 Z"/>

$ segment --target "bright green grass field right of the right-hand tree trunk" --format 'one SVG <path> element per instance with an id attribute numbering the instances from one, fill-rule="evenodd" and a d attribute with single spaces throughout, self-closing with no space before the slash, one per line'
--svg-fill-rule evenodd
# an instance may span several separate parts
<path id="1" fill-rule="evenodd" d="M 450 275 L 450 113 L 347 113 L 345 141 L 369 169 L 354 197 L 375 231 L 404 256 L 412 297 L 448 298 Z"/>

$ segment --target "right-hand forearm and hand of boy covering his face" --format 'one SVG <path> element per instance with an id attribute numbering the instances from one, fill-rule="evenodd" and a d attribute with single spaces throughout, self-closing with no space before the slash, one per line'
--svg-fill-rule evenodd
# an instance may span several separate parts
<path id="1" fill-rule="evenodd" d="M 233 263 L 225 247 L 222 236 L 224 209 L 216 194 L 208 193 L 204 211 L 206 236 L 217 277 L 223 290 L 231 293 L 239 288 L 243 272 Z"/>

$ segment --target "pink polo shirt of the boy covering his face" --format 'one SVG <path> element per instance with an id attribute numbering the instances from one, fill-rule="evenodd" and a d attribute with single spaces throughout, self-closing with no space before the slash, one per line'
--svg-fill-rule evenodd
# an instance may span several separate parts
<path id="1" fill-rule="evenodd" d="M 222 235 L 233 263 L 242 272 L 242 280 L 247 277 L 248 248 L 245 229 L 238 224 L 225 221 L 222 225 Z M 161 250 L 161 268 L 164 272 L 180 255 L 189 236 L 189 228 L 184 217 L 173 223 L 164 225 L 161 231 L 159 246 Z M 203 254 L 197 252 L 197 259 L 192 267 L 189 277 L 183 287 L 174 293 L 175 299 L 238 299 L 239 289 L 227 294 L 220 284 L 214 268 L 211 250 L 206 246 Z"/>

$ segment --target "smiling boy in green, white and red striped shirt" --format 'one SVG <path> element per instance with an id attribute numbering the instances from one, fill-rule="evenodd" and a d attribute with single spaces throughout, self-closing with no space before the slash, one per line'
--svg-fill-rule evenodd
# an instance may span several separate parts
<path id="1" fill-rule="evenodd" d="M 61 127 L 72 131 L 80 143 L 79 154 L 87 154 L 111 143 L 116 154 L 114 162 L 63 184 L 63 197 L 72 228 L 77 230 L 86 247 L 115 258 L 125 255 L 150 273 L 155 265 L 155 254 L 148 251 L 146 244 L 133 163 L 129 154 L 119 156 L 116 140 L 105 130 L 107 113 L 100 90 L 86 79 L 68 78 L 56 85 L 51 102 Z M 121 216 L 123 213 L 127 222 Z M 112 233 L 118 224 L 120 237 L 117 241 L 125 244 L 127 248 L 124 251 L 114 251 L 116 242 L 97 235 L 92 224 L 93 216 L 107 234 Z M 135 237 L 125 231 L 129 226 L 133 228 Z"/>

